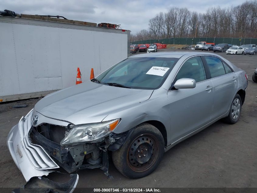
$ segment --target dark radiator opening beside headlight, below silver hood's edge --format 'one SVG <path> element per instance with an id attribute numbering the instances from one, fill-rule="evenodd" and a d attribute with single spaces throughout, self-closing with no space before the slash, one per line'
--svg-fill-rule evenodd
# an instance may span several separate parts
<path id="1" fill-rule="evenodd" d="M 42 125 L 37 126 L 35 129 L 45 138 L 60 144 L 61 140 L 65 137 L 66 127 L 43 123 Z"/>

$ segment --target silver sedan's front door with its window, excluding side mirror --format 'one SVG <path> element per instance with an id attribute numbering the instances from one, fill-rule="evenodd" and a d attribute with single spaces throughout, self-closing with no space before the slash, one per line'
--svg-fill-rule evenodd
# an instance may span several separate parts
<path id="1" fill-rule="evenodd" d="M 213 84 L 206 74 L 200 56 L 189 58 L 179 69 L 173 85 L 180 78 L 192 78 L 196 87 L 168 91 L 172 143 L 211 121 Z"/>

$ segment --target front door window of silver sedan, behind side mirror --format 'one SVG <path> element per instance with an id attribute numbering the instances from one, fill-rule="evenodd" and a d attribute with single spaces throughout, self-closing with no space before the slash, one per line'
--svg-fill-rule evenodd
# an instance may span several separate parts
<path id="1" fill-rule="evenodd" d="M 188 59 L 180 68 L 176 80 L 180 78 L 192 78 L 196 82 L 206 80 L 206 73 L 200 56 Z"/>

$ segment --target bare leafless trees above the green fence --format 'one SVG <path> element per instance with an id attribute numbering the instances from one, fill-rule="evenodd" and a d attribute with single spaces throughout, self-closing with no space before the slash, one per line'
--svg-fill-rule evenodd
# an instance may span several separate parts
<path id="1" fill-rule="evenodd" d="M 257 38 L 257 0 L 228 8 L 210 7 L 205 13 L 172 7 L 149 20 L 148 30 L 131 34 L 131 41 L 210 37 Z"/>

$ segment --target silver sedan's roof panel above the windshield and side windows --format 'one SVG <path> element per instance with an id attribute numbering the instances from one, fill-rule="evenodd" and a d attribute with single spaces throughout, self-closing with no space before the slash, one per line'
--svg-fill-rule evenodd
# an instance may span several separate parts
<path id="1" fill-rule="evenodd" d="M 147 53 L 147 54 L 137 54 L 137 55 L 133 55 L 130 56 L 130 58 L 145 58 L 145 57 L 149 57 L 149 58 L 181 58 L 184 55 L 188 55 L 188 57 L 190 56 L 194 56 L 194 55 L 214 55 L 214 56 L 219 56 L 217 54 L 213 54 L 213 53 L 207 53 L 207 52 L 156 52 L 156 53 Z"/>

